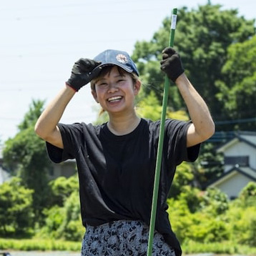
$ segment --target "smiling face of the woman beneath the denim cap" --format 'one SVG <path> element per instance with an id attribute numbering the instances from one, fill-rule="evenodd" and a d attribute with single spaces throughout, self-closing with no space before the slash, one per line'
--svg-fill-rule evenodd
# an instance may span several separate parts
<path id="1" fill-rule="evenodd" d="M 109 73 L 95 82 L 92 90 L 94 99 L 109 114 L 133 111 L 134 98 L 139 93 L 141 83 L 132 82 L 129 73 L 120 74 L 114 66 Z"/>

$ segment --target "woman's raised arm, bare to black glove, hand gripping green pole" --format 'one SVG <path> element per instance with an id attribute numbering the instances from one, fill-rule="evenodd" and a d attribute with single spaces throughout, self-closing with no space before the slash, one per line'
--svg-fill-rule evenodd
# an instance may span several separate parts
<path id="1" fill-rule="evenodd" d="M 162 54 L 161 69 L 177 85 L 192 119 L 187 131 L 187 147 L 192 147 L 212 137 L 215 124 L 204 99 L 184 74 L 179 54 L 171 47 L 164 49 Z"/>

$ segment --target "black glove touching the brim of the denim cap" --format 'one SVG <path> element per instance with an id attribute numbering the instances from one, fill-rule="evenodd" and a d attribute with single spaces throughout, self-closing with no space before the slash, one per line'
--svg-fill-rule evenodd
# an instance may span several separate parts
<path id="1" fill-rule="evenodd" d="M 81 87 L 91 82 L 101 72 L 100 68 L 95 69 L 99 64 L 100 62 L 93 59 L 79 59 L 74 63 L 71 77 L 66 82 L 67 85 L 78 92 Z"/>

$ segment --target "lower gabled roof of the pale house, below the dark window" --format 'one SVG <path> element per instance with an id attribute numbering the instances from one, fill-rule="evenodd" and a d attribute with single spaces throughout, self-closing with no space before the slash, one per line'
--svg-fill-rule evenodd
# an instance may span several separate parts
<path id="1" fill-rule="evenodd" d="M 249 179 L 252 179 L 252 181 L 256 182 L 256 170 L 252 169 L 250 167 L 239 167 L 234 166 L 231 169 L 229 169 L 227 172 L 223 173 L 220 177 L 215 179 L 214 181 L 207 184 L 207 187 L 214 187 L 218 184 L 225 182 L 225 180 L 230 179 L 232 176 L 236 174 L 236 172 L 239 172 L 240 174 L 248 177 Z"/>

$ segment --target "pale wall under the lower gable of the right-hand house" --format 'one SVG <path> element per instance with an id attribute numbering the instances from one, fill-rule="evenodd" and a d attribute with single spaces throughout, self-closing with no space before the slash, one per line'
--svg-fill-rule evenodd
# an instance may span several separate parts
<path id="1" fill-rule="evenodd" d="M 230 199 L 233 199 L 238 197 L 241 190 L 251 181 L 251 179 L 240 174 L 240 172 L 235 172 L 231 179 L 225 179 L 225 181 L 215 184 L 215 187 L 225 192 Z"/>

